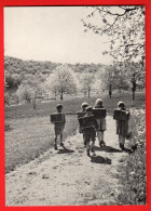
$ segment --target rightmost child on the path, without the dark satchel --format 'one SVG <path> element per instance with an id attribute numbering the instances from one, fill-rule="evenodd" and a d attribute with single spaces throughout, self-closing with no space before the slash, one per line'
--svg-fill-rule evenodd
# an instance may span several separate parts
<path id="1" fill-rule="evenodd" d="M 126 110 L 125 104 L 123 102 L 118 103 L 118 107 L 120 110 Z M 129 120 L 129 111 L 126 110 L 128 114 Z M 119 134 L 119 145 L 122 150 L 124 150 L 125 139 L 128 135 L 128 120 L 116 120 L 116 134 Z"/>

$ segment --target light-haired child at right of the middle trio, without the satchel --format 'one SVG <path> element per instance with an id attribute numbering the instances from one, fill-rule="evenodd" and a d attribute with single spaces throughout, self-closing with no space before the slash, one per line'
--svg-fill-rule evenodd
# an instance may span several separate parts
<path id="1" fill-rule="evenodd" d="M 101 98 L 96 100 L 94 108 L 105 108 L 102 106 L 102 100 Z M 96 121 L 99 126 L 99 128 L 97 130 L 97 137 L 98 137 L 98 141 L 99 141 L 99 146 L 100 147 L 106 146 L 105 141 L 104 141 L 104 136 L 105 136 L 104 131 L 106 130 L 106 118 L 96 119 Z"/>

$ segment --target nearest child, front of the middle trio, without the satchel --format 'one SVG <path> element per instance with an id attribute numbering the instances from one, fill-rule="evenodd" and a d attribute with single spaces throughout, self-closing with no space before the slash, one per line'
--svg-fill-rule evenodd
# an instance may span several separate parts
<path id="1" fill-rule="evenodd" d="M 86 107 L 86 115 L 85 117 L 87 116 L 92 116 L 92 113 L 93 113 L 93 108 L 91 106 L 87 106 Z M 95 151 L 94 151 L 94 147 L 95 147 L 95 140 L 96 140 L 96 131 L 95 131 L 95 128 L 97 129 L 98 128 L 98 124 L 95 120 L 95 118 L 93 119 L 93 126 L 90 127 L 90 128 L 85 128 L 83 129 L 83 134 L 84 134 L 84 142 L 86 144 L 86 153 L 87 153 L 87 156 L 91 156 L 90 155 L 90 151 L 93 153 L 93 155 L 95 155 Z M 92 144 L 91 144 L 91 141 L 92 141 Z"/>

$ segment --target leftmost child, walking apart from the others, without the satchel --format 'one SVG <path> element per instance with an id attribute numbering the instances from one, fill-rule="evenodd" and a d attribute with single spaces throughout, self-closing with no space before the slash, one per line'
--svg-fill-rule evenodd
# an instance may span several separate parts
<path id="1" fill-rule="evenodd" d="M 61 113 L 63 110 L 63 105 L 58 104 L 56 106 L 56 109 L 57 109 L 57 113 Z M 66 119 L 65 119 L 65 114 L 61 113 L 63 116 L 64 116 L 64 120 L 63 122 L 55 122 L 55 127 L 54 127 L 54 130 L 55 130 L 55 143 L 54 143 L 54 148 L 57 149 L 57 136 L 60 135 L 60 146 L 64 147 L 64 143 L 63 143 L 63 132 L 64 132 L 64 129 L 65 129 L 65 123 L 66 123 Z"/>

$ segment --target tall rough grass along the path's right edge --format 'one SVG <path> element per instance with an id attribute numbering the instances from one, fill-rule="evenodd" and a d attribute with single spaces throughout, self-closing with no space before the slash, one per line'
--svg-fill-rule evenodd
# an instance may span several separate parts
<path id="1" fill-rule="evenodd" d="M 129 154 L 126 167 L 122 169 L 120 177 L 123 186 L 118 205 L 146 205 L 146 116 L 145 109 L 132 109 L 131 129 L 134 131 L 134 141 L 138 144 L 137 150 Z"/>

